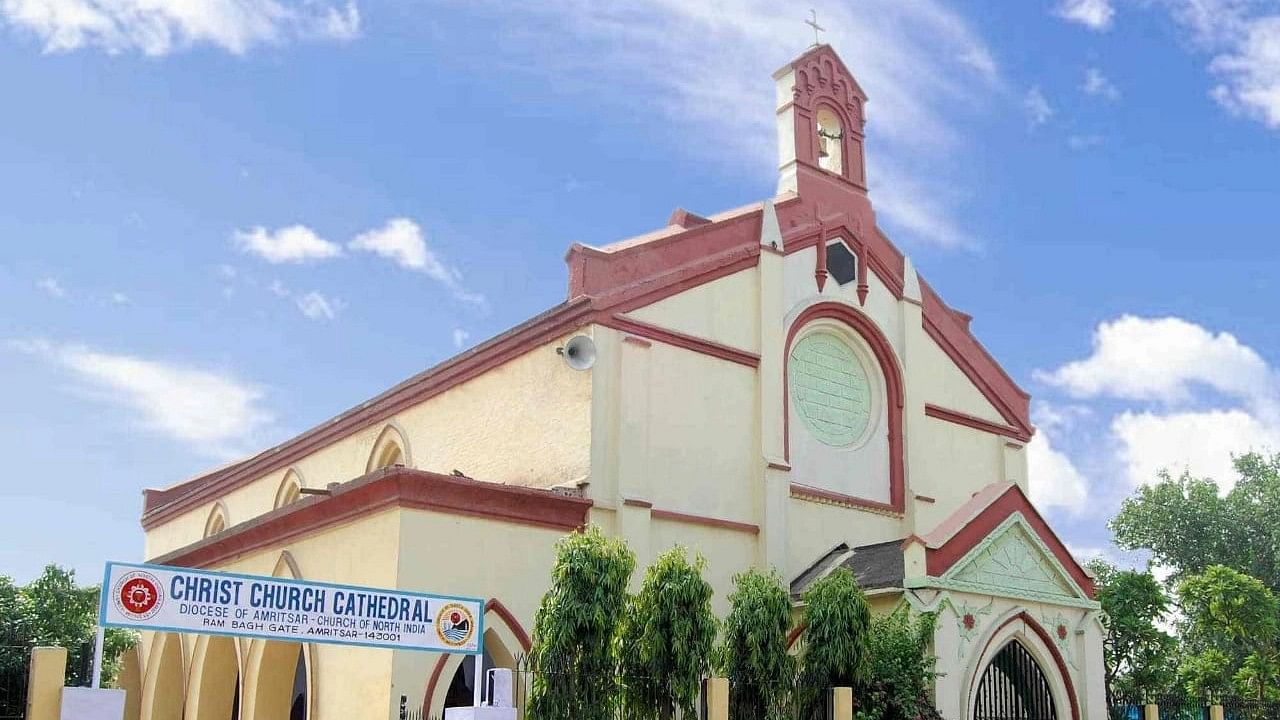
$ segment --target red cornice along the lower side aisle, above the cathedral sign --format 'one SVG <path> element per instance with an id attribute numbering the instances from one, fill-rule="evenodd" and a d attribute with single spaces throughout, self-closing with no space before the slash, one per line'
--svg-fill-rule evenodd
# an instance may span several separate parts
<path id="1" fill-rule="evenodd" d="M 586 524 L 591 501 L 545 489 L 388 468 L 337 486 L 332 496 L 314 496 L 273 510 L 214 537 L 154 557 L 150 562 L 209 568 L 388 507 L 430 510 L 568 532 Z"/>

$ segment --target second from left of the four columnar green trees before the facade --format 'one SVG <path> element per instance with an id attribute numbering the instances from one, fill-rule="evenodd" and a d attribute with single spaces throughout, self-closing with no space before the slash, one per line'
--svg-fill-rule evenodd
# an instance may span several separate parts
<path id="1" fill-rule="evenodd" d="M 690 562 L 684 547 L 672 547 L 649 566 L 631 600 L 618 638 L 628 716 L 696 715 L 717 625 L 705 566 L 704 559 Z"/>

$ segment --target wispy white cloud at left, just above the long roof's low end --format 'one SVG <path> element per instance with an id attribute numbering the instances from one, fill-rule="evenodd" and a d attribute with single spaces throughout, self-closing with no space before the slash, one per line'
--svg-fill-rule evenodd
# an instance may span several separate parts
<path id="1" fill-rule="evenodd" d="M 274 421 L 262 407 L 264 391 L 227 373 L 47 341 L 9 346 L 52 360 L 84 383 L 92 398 L 129 410 L 150 430 L 209 455 L 242 452 Z"/>

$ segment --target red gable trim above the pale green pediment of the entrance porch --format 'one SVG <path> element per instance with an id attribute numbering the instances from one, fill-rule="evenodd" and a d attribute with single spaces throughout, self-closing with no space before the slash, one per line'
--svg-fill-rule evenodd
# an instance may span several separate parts
<path id="1" fill-rule="evenodd" d="M 956 511 L 956 514 L 968 511 L 970 511 L 969 507 L 961 507 Z M 938 524 L 941 528 L 954 520 L 964 521 L 964 525 L 955 533 L 951 533 L 950 538 L 947 538 L 941 546 L 927 548 L 924 564 L 928 574 L 934 578 L 941 578 L 947 570 L 951 569 L 952 565 L 959 562 L 961 557 L 977 547 L 978 543 L 986 539 L 992 530 L 1009 519 L 1009 516 L 1014 512 L 1021 512 L 1023 516 L 1027 518 L 1027 523 L 1030 524 L 1036 534 L 1044 542 L 1050 552 L 1053 553 L 1053 557 L 1057 559 L 1075 584 L 1080 588 L 1080 592 L 1083 592 L 1085 597 L 1092 598 L 1093 579 L 1075 560 L 1071 551 L 1062 544 L 1062 541 L 1053 534 L 1053 530 L 1050 529 L 1044 518 L 1041 516 L 1039 511 L 1036 510 L 1036 506 L 1030 503 L 1025 495 L 1023 495 L 1021 488 L 1012 483 L 1010 483 L 1006 491 L 992 500 L 972 519 L 948 518 Z"/>

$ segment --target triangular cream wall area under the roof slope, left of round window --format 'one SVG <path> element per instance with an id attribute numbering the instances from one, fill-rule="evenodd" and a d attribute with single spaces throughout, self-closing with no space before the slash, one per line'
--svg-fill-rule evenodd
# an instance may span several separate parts
<path id="1" fill-rule="evenodd" d="M 627 316 L 756 352 L 760 332 L 751 310 L 759 302 L 759 287 L 758 272 L 750 268 L 639 307 Z"/>

